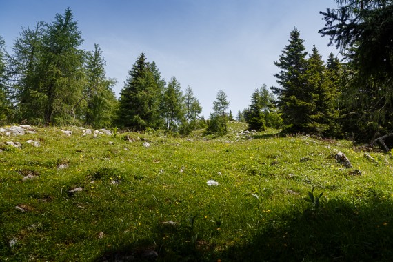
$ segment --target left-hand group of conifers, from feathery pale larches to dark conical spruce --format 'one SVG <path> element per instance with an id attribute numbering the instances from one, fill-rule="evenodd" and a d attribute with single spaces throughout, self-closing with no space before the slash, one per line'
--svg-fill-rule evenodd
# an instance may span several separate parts
<path id="1" fill-rule="evenodd" d="M 168 83 L 154 61 L 141 54 L 119 100 L 106 76 L 99 45 L 81 49 L 83 38 L 72 11 L 51 23 L 23 28 L 8 54 L 0 37 L 0 124 L 119 126 L 187 133 L 203 127 L 201 105 L 190 86 Z"/>

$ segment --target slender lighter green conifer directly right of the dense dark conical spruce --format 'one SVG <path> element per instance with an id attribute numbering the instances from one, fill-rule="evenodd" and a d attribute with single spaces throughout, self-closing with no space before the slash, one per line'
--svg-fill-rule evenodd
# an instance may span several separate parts
<path id="1" fill-rule="evenodd" d="M 181 123 L 185 122 L 185 104 L 183 92 L 176 77 L 172 77 L 165 88 L 163 104 L 167 130 L 177 131 Z"/>

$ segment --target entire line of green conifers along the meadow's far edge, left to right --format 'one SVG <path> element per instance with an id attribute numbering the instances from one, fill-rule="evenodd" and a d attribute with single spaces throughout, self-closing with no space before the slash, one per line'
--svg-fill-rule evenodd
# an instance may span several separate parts
<path id="1" fill-rule="evenodd" d="M 274 62 L 277 86 L 256 88 L 236 120 L 251 130 L 281 128 L 370 141 L 393 132 L 393 1 L 337 0 L 321 12 L 322 36 L 336 44 L 341 60 L 323 61 L 318 49 L 305 50 L 299 30 Z M 99 45 L 81 50 L 77 22 L 67 9 L 52 23 L 23 28 L 7 54 L 0 38 L 0 122 L 36 125 L 84 124 L 129 130 L 163 129 L 224 134 L 233 120 L 220 90 L 205 121 L 192 88 L 185 93 L 175 77 L 165 81 L 157 65 L 141 54 L 121 90 L 106 77 Z"/>

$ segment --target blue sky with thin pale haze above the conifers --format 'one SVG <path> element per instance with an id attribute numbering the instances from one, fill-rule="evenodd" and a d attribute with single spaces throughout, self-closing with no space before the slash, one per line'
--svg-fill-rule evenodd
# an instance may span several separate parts
<path id="1" fill-rule="evenodd" d="M 318 33 L 325 25 L 319 12 L 336 8 L 334 0 L 0 0 L 8 52 L 21 28 L 50 23 L 66 8 L 78 21 L 81 48 L 101 47 L 117 97 L 143 52 L 166 81 L 176 77 L 183 91 L 190 85 L 205 118 L 219 90 L 236 117 L 255 88 L 277 85 L 274 61 L 295 27 L 309 52 L 315 45 L 324 60 L 339 53 Z"/>

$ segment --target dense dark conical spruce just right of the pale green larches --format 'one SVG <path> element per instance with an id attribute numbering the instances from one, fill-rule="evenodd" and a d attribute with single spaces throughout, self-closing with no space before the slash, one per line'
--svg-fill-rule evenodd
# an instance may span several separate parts
<path id="1" fill-rule="evenodd" d="M 145 54 L 132 66 L 120 92 L 117 123 L 123 128 L 141 131 L 162 126 L 161 90 Z"/>

